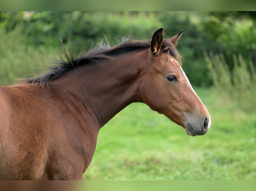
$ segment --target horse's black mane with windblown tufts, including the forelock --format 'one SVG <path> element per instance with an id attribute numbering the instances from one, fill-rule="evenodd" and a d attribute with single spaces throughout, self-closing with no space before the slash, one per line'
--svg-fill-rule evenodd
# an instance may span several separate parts
<path id="1" fill-rule="evenodd" d="M 74 68 L 88 64 L 99 65 L 101 61 L 109 57 L 139 52 L 148 48 L 150 48 L 150 41 L 125 40 L 114 47 L 110 47 L 109 44 L 104 45 L 101 42 L 96 49 L 74 56 L 71 46 L 69 46 L 69 52 L 67 53 L 62 43 L 63 55 L 59 54 L 60 60 L 54 60 L 52 65 L 48 67 L 51 71 L 36 78 L 25 79 L 23 82 L 27 84 L 40 83 L 43 86 L 45 83 L 48 84 L 49 81 Z M 181 64 L 181 57 L 170 41 L 163 40 L 161 50 L 170 54 Z"/>

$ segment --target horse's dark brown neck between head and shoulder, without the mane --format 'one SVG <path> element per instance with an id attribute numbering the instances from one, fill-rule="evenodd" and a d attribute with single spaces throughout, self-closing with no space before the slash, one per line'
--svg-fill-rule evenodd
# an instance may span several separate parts
<path id="1" fill-rule="evenodd" d="M 136 57 L 113 57 L 103 66 L 85 66 L 74 71 L 73 78 L 66 75 L 68 83 L 59 80 L 59 85 L 77 96 L 102 127 L 127 105 L 141 100 L 139 76 L 145 64 L 142 60 L 146 62 L 145 52 L 136 53 Z"/>

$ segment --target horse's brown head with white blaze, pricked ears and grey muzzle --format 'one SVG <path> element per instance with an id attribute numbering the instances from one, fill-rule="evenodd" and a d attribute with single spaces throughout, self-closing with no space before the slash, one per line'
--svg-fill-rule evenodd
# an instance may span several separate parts
<path id="1" fill-rule="evenodd" d="M 163 40 L 162 30 L 154 33 L 147 53 L 147 67 L 140 86 L 142 100 L 181 125 L 188 135 L 204 135 L 211 125 L 209 112 L 191 87 L 174 48 L 182 31 Z"/>

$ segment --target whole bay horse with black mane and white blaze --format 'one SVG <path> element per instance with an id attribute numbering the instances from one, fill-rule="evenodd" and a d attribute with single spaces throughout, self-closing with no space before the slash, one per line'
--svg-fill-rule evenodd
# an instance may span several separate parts
<path id="1" fill-rule="evenodd" d="M 64 49 L 49 73 L 1 86 L 0 179 L 83 179 L 99 130 L 133 102 L 164 114 L 187 135 L 204 135 L 209 112 L 175 49 L 183 31 L 170 39 L 162 31 L 76 57 Z"/>

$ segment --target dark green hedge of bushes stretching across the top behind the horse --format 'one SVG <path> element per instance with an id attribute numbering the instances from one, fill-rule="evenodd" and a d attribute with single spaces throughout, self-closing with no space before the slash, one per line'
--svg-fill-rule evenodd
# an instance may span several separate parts
<path id="1" fill-rule="evenodd" d="M 114 46 L 120 36 L 150 39 L 163 27 L 165 37 L 172 37 L 183 29 L 177 46 L 183 69 L 191 84 L 209 87 L 213 82 L 206 75 L 204 51 L 223 54 L 229 69 L 233 54 L 256 66 L 254 18 L 253 12 L 5 11 L 0 12 L 0 27 L 7 33 L 18 27 L 24 46 L 56 48 L 60 39 L 64 44 L 70 39 L 77 52 L 96 46 L 104 36 Z"/>

